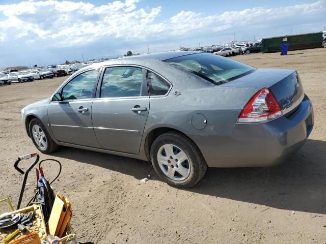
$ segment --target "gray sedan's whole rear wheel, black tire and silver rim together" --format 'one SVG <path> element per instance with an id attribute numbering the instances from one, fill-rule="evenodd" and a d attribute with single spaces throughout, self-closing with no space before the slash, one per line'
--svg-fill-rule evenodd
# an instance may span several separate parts
<path id="1" fill-rule="evenodd" d="M 156 173 L 172 186 L 193 187 L 207 169 L 196 145 L 177 133 L 158 136 L 151 146 L 150 154 Z"/>

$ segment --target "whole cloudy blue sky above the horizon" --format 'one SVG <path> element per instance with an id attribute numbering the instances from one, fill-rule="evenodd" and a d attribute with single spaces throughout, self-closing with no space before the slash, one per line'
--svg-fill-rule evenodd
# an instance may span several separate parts
<path id="1" fill-rule="evenodd" d="M 0 68 L 323 31 L 326 0 L 0 0 Z"/>

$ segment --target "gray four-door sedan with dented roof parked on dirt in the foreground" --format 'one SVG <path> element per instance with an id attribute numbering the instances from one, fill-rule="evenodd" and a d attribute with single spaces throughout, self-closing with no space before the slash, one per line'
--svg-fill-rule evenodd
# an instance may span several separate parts
<path id="1" fill-rule="evenodd" d="M 196 185 L 207 166 L 282 162 L 314 124 L 295 70 L 185 51 L 85 67 L 21 113 L 42 153 L 63 145 L 151 161 L 177 187 Z"/>

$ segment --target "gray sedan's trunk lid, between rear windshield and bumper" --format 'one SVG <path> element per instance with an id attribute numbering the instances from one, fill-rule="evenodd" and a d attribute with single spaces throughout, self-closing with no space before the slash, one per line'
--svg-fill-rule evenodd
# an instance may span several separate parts
<path id="1" fill-rule="evenodd" d="M 279 102 L 283 114 L 296 108 L 304 99 L 302 83 L 295 70 L 258 69 L 222 86 L 257 88 L 257 91 L 267 87 Z"/>

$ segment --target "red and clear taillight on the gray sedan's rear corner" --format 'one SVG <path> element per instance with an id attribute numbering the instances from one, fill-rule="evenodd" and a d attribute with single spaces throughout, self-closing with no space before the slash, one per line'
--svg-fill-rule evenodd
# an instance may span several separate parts
<path id="1" fill-rule="evenodd" d="M 280 116 L 282 111 L 274 95 L 262 88 L 244 106 L 237 123 L 265 123 Z"/>

